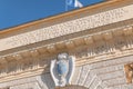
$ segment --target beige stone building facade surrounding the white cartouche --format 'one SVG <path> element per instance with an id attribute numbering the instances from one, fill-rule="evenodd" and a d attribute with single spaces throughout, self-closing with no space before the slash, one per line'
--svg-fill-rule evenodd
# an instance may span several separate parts
<path id="1" fill-rule="evenodd" d="M 51 61 L 75 57 L 69 85 Z M 133 89 L 133 1 L 108 0 L 0 31 L 0 89 Z"/>

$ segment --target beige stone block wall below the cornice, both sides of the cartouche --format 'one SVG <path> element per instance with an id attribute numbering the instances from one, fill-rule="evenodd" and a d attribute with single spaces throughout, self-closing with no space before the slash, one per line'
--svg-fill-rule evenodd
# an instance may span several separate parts
<path id="1" fill-rule="evenodd" d="M 132 89 L 133 85 L 126 83 L 124 65 L 133 62 L 133 56 L 111 59 L 79 66 L 72 79 L 71 86 L 84 87 L 83 89 Z M 54 82 L 50 73 L 18 79 L 0 83 L 0 88 L 9 87 L 10 89 L 54 89 Z"/>

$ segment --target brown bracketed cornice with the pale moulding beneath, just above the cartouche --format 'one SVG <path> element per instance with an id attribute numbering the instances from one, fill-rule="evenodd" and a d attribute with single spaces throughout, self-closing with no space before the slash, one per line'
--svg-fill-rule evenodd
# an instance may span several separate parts
<path id="1" fill-rule="evenodd" d="M 133 55 L 133 28 L 127 26 L 111 29 L 2 56 L 0 57 L 0 78 L 10 80 L 14 79 L 13 76 L 24 75 L 28 71 L 39 72 L 27 76 L 39 75 L 43 69 L 49 72 L 50 60 L 61 51 L 75 56 L 76 66 Z"/>

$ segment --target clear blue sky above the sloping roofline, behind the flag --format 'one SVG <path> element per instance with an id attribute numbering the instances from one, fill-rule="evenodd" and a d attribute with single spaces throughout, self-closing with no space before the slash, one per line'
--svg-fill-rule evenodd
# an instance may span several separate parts
<path id="1" fill-rule="evenodd" d="M 103 0 L 79 0 L 83 6 Z M 69 10 L 74 8 L 69 7 Z M 0 29 L 65 12 L 65 0 L 0 0 Z"/>

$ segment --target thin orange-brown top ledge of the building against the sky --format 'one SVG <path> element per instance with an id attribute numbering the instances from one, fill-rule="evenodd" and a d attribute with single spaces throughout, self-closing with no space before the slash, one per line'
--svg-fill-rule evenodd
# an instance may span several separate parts
<path id="1" fill-rule="evenodd" d="M 84 12 L 88 13 L 91 10 L 93 11 L 93 10 L 99 10 L 100 8 L 106 8 L 106 6 L 108 7 L 109 6 L 114 7 L 114 6 L 117 6 L 120 3 L 131 3 L 131 2 L 132 1 L 130 1 L 130 0 L 123 0 L 123 1 L 122 0 L 111 0 L 111 1 L 109 0 L 109 1 L 95 4 L 95 6 L 85 7 L 85 8 L 82 8 L 82 9 L 78 9 L 78 10 L 74 10 L 74 11 L 69 11 L 69 12 L 58 14 L 58 16 L 54 16 L 54 17 L 50 17 L 50 18 L 37 20 L 37 21 L 33 21 L 33 22 L 28 22 L 28 23 L 24 23 L 24 24 L 21 24 L 21 26 L 18 26 L 18 27 L 9 28 L 9 29 L 6 29 L 6 30 L 1 31 L 0 36 L 2 36 L 2 34 L 4 36 L 6 33 L 16 32 L 18 30 L 23 31 L 25 29 L 30 29 L 31 27 L 37 29 L 41 23 L 43 24 L 43 22 L 49 22 L 49 23 L 55 22 L 57 23 L 59 20 L 62 20 L 63 18 L 64 19 L 69 18 L 71 20 L 73 17 L 75 18 L 75 14 L 79 16 L 79 14 L 84 13 Z"/>

